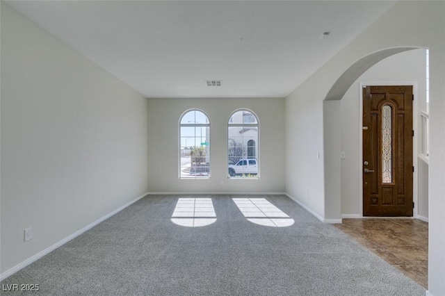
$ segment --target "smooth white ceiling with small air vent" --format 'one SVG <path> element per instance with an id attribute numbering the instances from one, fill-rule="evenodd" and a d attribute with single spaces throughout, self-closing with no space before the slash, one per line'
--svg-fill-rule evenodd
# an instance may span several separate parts
<path id="1" fill-rule="evenodd" d="M 395 2 L 8 3 L 145 97 L 286 97 Z"/>

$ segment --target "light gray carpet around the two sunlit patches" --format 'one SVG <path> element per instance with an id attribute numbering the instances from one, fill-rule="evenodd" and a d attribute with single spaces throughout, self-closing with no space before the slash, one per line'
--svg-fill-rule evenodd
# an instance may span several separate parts
<path id="1" fill-rule="evenodd" d="M 425 295 L 426 291 L 284 196 L 265 197 L 290 227 L 246 220 L 229 195 L 217 221 L 170 221 L 179 197 L 149 196 L 5 279 L 32 295 Z M 245 196 L 244 196 L 245 197 Z M 17 293 L 1 292 L 1 295 Z"/>

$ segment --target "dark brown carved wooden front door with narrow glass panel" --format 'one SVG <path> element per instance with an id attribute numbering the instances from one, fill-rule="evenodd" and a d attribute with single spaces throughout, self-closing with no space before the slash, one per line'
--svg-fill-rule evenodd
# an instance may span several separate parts
<path id="1" fill-rule="evenodd" d="M 363 88 L 363 215 L 412 216 L 412 86 Z"/>

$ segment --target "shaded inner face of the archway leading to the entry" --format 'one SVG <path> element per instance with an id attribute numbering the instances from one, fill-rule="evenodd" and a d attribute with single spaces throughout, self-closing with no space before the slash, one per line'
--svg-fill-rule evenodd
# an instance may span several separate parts
<path id="1" fill-rule="evenodd" d="M 362 74 L 380 61 L 419 47 L 383 49 L 364 56 L 348 67 L 332 85 L 323 101 L 323 149 L 325 179 L 325 218 L 341 222 L 341 99 Z M 358 94 L 357 94 L 358 96 Z M 357 110 L 357 113 L 359 110 Z M 358 124 L 358 123 L 357 123 Z M 361 149 L 361 147 L 360 147 Z M 358 161 L 358 160 L 357 160 Z M 361 163 L 361 162 L 360 162 Z M 361 172 L 361 171 L 359 171 Z M 359 176 L 357 176 L 359 179 Z M 361 179 L 360 179 L 361 181 Z M 358 194 L 358 193 L 357 193 Z M 360 205 L 362 206 L 362 205 Z M 360 208 L 361 211 L 361 208 Z M 362 213 L 362 212 L 360 212 Z M 357 215 L 357 217 L 360 215 Z"/>

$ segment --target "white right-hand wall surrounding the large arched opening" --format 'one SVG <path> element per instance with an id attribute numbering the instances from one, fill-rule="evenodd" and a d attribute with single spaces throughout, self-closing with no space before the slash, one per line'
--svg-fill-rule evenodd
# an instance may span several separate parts
<path id="1" fill-rule="evenodd" d="M 341 173 L 337 162 L 321 163 L 312 151 L 337 149 L 335 138 L 323 131 L 323 100 L 341 99 L 344 92 L 379 59 L 412 48 L 430 49 L 430 176 L 429 269 L 430 295 L 445 290 L 445 2 L 398 1 L 389 12 L 318 69 L 286 97 L 286 191 L 322 218 L 341 217 L 337 207 L 325 208 L 328 177 Z M 352 69 L 353 71 L 348 71 Z M 343 75 L 347 73 L 348 75 Z M 340 83 L 340 84 L 338 84 Z M 330 92 L 330 89 L 335 91 Z M 344 91 L 343 91 L 344 90 Z M 332 114 L 329 115 L 332 119 Z M 337 119 L 341 122 L 341 113 Z M 308 135 L 308 130 L 312 135 Z M 298 131 L 297 133 L 295 131 Z M 332 146 L 331 146 L 332 143 Z M 332 151 L 331 151 L 332 152 Z M 337 151 L 339 155 L 340 149 Z M 331 153 L 330 155 L 335 155 Z M 322 157 L 326 157 L 324 151 Z M 321 187 L 323 189 L 320 189 Z M 339 186 L 332 186 L 338 190 Z M 316 192 L 307 195 L 306 192 Z M 330 193 L 338 198 L 339 193 Z M 332 201 L 330 201 L 332 202 Z M 324 213 L 323 213 L 323 208 Z M 329 213 L 327 213 L 329 211 Z M 332 212 L 330 212 L 332 211 Z"/>

